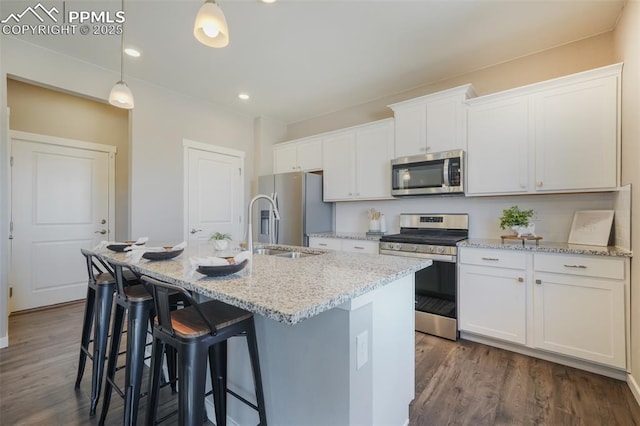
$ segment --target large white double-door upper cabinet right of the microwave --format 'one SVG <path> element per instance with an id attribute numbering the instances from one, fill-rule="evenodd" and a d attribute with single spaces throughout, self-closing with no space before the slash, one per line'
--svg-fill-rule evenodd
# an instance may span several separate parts
<path id="1" fill-rule="evenodd" d="M 619 185 L 620 75 L 610 65 L 467 101 L 467 195 Z"/>

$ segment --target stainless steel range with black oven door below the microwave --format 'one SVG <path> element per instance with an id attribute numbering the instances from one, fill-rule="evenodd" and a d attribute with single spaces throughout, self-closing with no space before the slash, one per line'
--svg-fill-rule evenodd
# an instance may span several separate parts
<path id="1" fill-rule="evenodd" d="M 432 259 L 416 272 L 416 330 L 458 337 L 456 243 L 469 236 L 466 214 L 401 214 L 400 233 L 380 238 L 380 254 Z"/>

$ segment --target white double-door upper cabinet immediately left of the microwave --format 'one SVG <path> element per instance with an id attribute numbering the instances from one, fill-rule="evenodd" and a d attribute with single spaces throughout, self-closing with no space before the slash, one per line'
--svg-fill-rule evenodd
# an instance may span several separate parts
<path id="1" fill-rule="evenodd" d="M 324 201 L 391 198 L 393 120 L 323 138 Z"/>

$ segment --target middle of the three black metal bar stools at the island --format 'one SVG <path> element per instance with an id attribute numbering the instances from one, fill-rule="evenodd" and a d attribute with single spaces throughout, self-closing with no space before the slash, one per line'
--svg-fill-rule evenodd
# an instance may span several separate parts
<path id="1" fill-rule="evenodd" d="M 116 392 L 124 398 L 123 424 L 134 425 L 138 414 L 138 402 L 140 400 L 142 372 L 144 369 L 144 350 L 153 308 L 153 299 L 142 284 L 131 285 L 127 282 L 124 276 L 124 270 L 128 269 L 126 263 L 109 260 L 109 264 L 113 268 L 115 276 L 116 308 L 111 330 L 111 346 L 99 424 L 104 425 L 111 403 L 111 393 L 115 388 Z M 125 384 L 124 390 L 122 390 L 115 383 L 115 373 L 125 313 L 127 314 L 127 344 Z"/>

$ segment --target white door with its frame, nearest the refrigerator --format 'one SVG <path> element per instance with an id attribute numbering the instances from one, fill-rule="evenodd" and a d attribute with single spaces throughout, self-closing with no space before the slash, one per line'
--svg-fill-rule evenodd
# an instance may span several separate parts
<path id="1" fill-rule="evenodd" d="M 243 235 L 244 153 L 185 141 L 186 239 Z"/>

